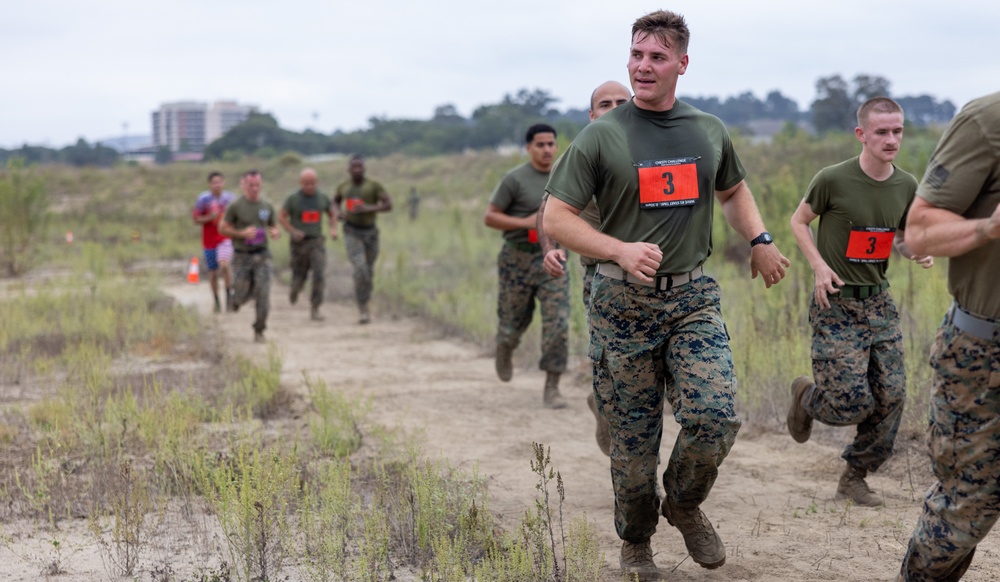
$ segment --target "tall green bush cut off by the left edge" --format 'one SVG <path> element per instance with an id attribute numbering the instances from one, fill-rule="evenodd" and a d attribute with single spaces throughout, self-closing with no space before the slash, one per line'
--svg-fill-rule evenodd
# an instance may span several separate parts
<path id="1" fill-rule="evenodd" d="M 49 197 L 24 159 L 11 158 L 0 174 L 0 264 L 18 276 L 34 264 L 48 224 Z"/>

